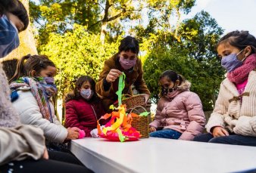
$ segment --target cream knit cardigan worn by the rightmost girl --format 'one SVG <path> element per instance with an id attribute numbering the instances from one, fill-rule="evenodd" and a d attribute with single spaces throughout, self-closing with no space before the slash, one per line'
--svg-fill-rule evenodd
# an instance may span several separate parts
<path id="1" fill-rule="evenodd" d="M 214 126 L 222 126 L 245 136 L 256 137 L 256 71 L 251 71 L 242 96 L 242 103 L 236 85 L 229 79 L 220 84 L 220 93 L 214 112 L 206 125 L 210 132 Z"/>

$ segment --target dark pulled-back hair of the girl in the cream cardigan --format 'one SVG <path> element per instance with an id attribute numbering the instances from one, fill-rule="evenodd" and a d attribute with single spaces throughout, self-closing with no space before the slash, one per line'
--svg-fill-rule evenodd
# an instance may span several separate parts
<path id="1" fill-rule="evenodd" d="M 256 39 L 248 31 L 236 30 L 236 31 L 227 33 L 217 43 L 217 47 L 220 44 L 226 44 L 226 43 L 236 48 L 239 48 L 239 50 L 242 50 L 245 47 L 250 46 L 251 54 L 256 53 Z"/>

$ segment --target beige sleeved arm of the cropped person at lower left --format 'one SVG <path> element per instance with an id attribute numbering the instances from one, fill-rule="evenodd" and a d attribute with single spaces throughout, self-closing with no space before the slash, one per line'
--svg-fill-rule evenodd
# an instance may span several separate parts
<path id="1" fill-rule="evenodd" d="M 0 165 L 27 158 L 41 159 L 45 152 L 43 132 L 32 125 L 0 128 L 0 136 Z"/>

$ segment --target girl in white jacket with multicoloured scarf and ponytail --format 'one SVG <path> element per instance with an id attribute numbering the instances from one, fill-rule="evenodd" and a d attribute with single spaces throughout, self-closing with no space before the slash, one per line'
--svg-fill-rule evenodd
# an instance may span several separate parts
<path id="1" fill-rule="evenodd" d="M 77 139 L 80 129 L 64 128 L 55 116 L 52 102 L 52 96 L 57 94 L 53 78 L 55 73 L 55 64 L 48 57 L 29 54 L 17 63 L 17 70 L 10 79 L 10 88 L 11 99 L 20 115 L 20 121 L 42 128 L 48 149 L 58 150 L 58 144 Z"/>

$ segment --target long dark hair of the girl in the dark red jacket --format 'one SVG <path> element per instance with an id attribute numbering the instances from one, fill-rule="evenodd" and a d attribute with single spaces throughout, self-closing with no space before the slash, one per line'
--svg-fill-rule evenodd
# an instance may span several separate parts
<path id="1" fill-rule="evenodd" d="M 96 93 L 95 89 L 95 80 L 92 79 L 91 76 L 80 76 L 80 78 L 76 80 L 75 88 L 73 89 L 73 91 L 66 95 L 66 103 L 70 100 L 78 100 L 79 98 L 81 98 L 80 92 L 78 90 L 82 87 L 84 82 L 89 82 L 89 84 L 91 85 L 91 90 L 93 91 L 93 96 L 90 100 L 88 100 L 88 102 L 97 102 L 99 100 L 98 94 Z"/>

